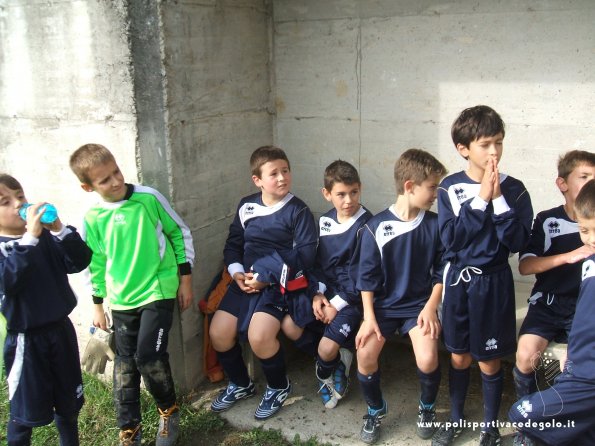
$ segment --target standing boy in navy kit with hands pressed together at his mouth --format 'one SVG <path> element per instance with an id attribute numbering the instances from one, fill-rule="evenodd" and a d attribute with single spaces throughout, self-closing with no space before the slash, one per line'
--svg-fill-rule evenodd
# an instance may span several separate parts
<path id="1" fill-rule="evenodd" d="M 444 179 L 438 220 L 445 258 L 442 331 L 451 352 L 450 423 L 432 445 L 452 444 L 464 424 L 471 361 L 479 362 L 484 399 L 480 445 L 500 444 L 497 426 L 504 376 L 501 358 L 516 351 L 511 253 L 529 241 L 533 210 L 525 186 L 500 174 L 504 122 L 490 107 L 465 109 L 452 125 L 452 140 L 468 160 L 465 171 Z"/>

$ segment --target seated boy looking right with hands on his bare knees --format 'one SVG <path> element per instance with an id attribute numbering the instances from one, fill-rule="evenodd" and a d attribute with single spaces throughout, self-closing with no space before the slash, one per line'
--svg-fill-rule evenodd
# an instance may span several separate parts
<path id="1" fill-rule="evenodd" d="M 380 389 L 378 357 L 386 338 L 409 334 L 421 385 L 417 434 L 433 433 L 440 386 L 437 308 L 442 295 L 443 248 L 438 217 L 429 211 L 444 166 L 423 150 L 410 149 L 395 164 L 397 201 L 364 226 L 358 245 L 356 287 L 364 318 L 355 338 L 358 379 L 368 412 L 361 439 L 380 437 L 387 404 Z"/>

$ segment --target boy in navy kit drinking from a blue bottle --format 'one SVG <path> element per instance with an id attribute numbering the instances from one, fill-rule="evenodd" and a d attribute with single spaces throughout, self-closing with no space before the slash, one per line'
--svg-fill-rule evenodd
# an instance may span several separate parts
<path id="1" fill-rule="evenodd" d="M 60 219 L 42 224 L 40 204 L 19 182 L 0 174 L 0 310 L 6 317 L 10 446 L 31 444 L 33 427 L 55 421 L 62 446 L 77 446 L 83 380 L 76 333 L 68 315 L 76 297 L 67 274 L 82 271 L 91 250 Z M 39 213 L 38 213 L 39 212 Z"/>

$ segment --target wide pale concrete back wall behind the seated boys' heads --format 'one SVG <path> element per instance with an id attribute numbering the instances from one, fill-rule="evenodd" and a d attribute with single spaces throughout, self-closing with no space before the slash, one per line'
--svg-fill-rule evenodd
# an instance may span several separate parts
<path id="1" fill-rule="evenodd" d="M 322 171 L 340 157 L 360 169 L 377 212 L 394 202 L 407 148 L 464 169 L 450 125 L 487 104 L 507 124 L 502 170 L 536 210 L 561 203 L 557 157 L 595 150 L 593 23 L 589 0 L 275 1 L 276 142 L 295 192 L 325 211 Z"/>

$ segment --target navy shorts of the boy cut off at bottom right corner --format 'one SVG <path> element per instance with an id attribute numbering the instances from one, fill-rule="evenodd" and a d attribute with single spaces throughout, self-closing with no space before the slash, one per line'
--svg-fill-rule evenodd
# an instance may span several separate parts
<path id="1" fill-rule="evenodd" d="M 552 387 L 527 395 L 508 412 L 521 432 L 546 444 L 595 444 L 595 382 L 565 371 Z M 520 423 L 523 423 L 521 426 Z"/>

